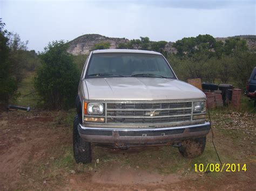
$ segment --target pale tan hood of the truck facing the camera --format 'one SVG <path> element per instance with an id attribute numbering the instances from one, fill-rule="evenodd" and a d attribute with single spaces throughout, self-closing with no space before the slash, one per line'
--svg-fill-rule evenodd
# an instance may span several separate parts
<path id="1" fill-rule="evenodd" d="M 205 98 L 183 81 L 154 77 L 85 79 L 90 100 L 188 100 Z"/>

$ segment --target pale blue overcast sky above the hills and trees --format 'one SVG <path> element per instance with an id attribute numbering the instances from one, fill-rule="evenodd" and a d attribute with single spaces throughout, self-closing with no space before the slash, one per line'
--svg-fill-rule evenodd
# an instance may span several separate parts
<path id="1" fill-rule="evenodd" d="M 12 1 L 0 0 L 5 29 L 28 48 L 83 34 L 176 41 L 199 34 L 231 37 L 256 31 L 256 0 Z"/>

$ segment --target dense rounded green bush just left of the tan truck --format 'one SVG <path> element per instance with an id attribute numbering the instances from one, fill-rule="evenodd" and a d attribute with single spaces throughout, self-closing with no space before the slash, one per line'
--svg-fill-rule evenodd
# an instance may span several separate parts
<path id="1" fill-rule="evenodd" d="M 50 109 L 67 109 L 75 105 L 79 73 L 67 49 L 63 40 L 53 41 L 39 55 L 43 64 L 37 70 L 35 88 L 45 107 Z"/>

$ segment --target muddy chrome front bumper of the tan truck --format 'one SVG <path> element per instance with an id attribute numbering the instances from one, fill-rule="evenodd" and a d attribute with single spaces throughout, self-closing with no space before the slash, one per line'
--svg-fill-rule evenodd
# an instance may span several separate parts
<path id="1" fill-rule="evenodd" d="M 210 123 L 154 129 L 89 128 L 79 124 L 80 137 L 86 142 L 107 144 L 161 144 L 205 137 Z"/>

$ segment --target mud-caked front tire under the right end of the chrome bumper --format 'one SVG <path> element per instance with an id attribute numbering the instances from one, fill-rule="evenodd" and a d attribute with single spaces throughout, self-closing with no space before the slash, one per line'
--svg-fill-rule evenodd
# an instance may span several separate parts
<path id="1" fill-rule="evenodd" d="M 206 137 L 184 140 L 178 147 L 179 152 L 185 158 L 194 158 L 201 155 L 205 150 Z"/>

